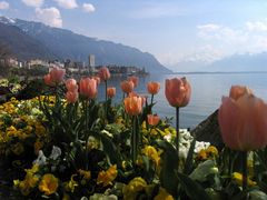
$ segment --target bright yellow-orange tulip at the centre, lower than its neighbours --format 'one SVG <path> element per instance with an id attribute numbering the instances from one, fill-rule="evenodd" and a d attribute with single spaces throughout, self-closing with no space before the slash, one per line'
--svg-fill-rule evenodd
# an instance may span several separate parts
<path id="1" fill-rule="evenodd" d="M 127 97 L 125 98 L 125 109 L 130 116 L 138 116 L 141 113 L 142 99 L 140 97 Z"/>

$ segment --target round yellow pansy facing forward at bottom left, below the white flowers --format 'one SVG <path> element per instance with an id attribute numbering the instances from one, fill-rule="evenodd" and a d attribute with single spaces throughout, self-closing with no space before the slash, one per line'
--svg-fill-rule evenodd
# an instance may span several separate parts
<path id="1" fill-rule="evenodd" d="M 44 192 L 46 196 L 50 196 L 55 193 L 57 189 L 58 189 L 58 179 L 51 173 L 44 174 L 39 184 L 39 190 L 41 192 Z"/>

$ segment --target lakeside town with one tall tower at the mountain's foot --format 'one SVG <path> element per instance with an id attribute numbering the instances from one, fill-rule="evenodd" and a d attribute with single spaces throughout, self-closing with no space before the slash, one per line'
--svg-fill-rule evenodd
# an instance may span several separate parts
<path id="1" fill-rule="evenodd" d="M 0 54 L 0 71 L 1 76 L 7 74 L 6 71 L 12 71 L 18 76 L 42 76 L 50 71 L 53 67 L 66 69 L 67 76 L 88 76 L 98 72 L 102 66 L 96 64 L 95 54 L 88 56 L 88 63 L 82 61 L 73 61 L 67 59 L 60 60 L 42 60 L 42 59 L 30 59 L 20 60 L 14 56 L 1 56 Z M 113 76 L 147 76 L 145 68 L 138 68 L 134 66 L 118 66 L 107 64 L 110 73 Z"/>

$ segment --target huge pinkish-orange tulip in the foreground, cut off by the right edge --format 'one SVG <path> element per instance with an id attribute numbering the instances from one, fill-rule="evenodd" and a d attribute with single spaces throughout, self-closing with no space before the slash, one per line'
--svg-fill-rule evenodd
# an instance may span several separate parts
<path id="1" fill-rule="evenodd" d="M 221 101 L 218 120 L 226 146 L 239 151 L 266 147 L 267 104 L 246 92 L 237 100 L 222 97 Z"/>

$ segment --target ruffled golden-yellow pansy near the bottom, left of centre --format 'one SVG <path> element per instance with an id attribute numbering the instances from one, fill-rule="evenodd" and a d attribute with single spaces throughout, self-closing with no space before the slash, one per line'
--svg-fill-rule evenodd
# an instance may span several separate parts
<path id="1" fill-rule="evenodd" d="M 112 181 L 116 179 L 117 174 L 117 164 L 113 164 L 107 171 L 100 171 L 98 173 L 97 183 L 102 183 L 103 187 L 112 184 Z"/>

